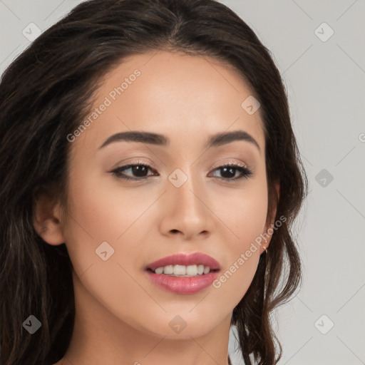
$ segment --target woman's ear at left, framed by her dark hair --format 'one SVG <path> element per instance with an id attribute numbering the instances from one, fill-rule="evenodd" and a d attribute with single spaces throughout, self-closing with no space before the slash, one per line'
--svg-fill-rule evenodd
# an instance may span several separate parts
<path id="1" fill-rule="evenodd" d="M 33 225 L 38 235 L 50 245 L 61 245 L 65 242 L 61 222 L 61 205 L 54 195 L 45 190 L 38 192 L 33 209 Z"/>

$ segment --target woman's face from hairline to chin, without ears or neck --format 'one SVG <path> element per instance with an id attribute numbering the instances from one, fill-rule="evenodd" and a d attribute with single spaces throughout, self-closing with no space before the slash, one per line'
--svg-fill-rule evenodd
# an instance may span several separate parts
<path id="1" fill-rule="evenodd" d="M 138 331 L 171 339 L 229 323 L 263 251 L 252 242 L 269 225 L 264 133 L 252 92 L 210 58 L 158 52 L 123 61 L 97 94 L 88 121 L 68 135 L 61 230 L 76 302 L 86 312 L 97 303 Z M 153 137 L 118 137 L 132 131 Z M 208 144 L 233 131 L 243 137 Z M 123 170 L 128 164 L 148 167 Z M 220 168 L 234 164 L 244 170 Z M 195 264 L 213 268 L 202 257 L 157 264 L 167 274 L 148 269 L 197 252 L 215 259 L 219 272 L 197 276 Z M 173 274 L 189 266 L 192 279 L 168 274 L 184 262 Z"/>

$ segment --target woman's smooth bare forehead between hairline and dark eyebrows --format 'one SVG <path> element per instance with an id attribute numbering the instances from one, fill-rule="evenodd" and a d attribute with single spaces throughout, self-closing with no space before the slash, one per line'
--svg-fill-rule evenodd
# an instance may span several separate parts
<path id="1" fill-rule="evenodd" d="M 242 76 L 212 58 L 166 51 L 133 55 L 106 74 L 93 103 L 96 118 L 78 139 L 99 146 L 113 133 L 145 130 L 193 143 L 198 135 L 245 130 L 263 149 L 259 110 L 250 115 L 242 107 L 250 97 Z"/>

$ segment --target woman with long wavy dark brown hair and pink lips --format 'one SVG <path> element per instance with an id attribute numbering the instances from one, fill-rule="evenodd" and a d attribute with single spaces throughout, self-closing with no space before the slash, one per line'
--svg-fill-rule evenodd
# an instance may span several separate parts
<path id="1" fill-rule="evenodd" d="M 231 364 L 232 325 L 277 364 L 307 178 L 242 19 L 86 1 L 7 68 L 0 117 L 1 364 Z"/>

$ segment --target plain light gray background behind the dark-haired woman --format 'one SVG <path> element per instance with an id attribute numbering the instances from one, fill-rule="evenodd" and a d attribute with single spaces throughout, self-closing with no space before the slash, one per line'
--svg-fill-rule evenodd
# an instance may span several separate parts
<path id="1" fill-rule="evenodd" d="M 0 73 L 29 46 L 23 32 L 36 35 L 30 23 L 43 31 L 80 2 L 0 0 Z M 273 317 L 279 364 L 365 364 L 364 0 L 222 2 L 273 53 L 309 177 L 294 230 L 304 284 Z"/>

